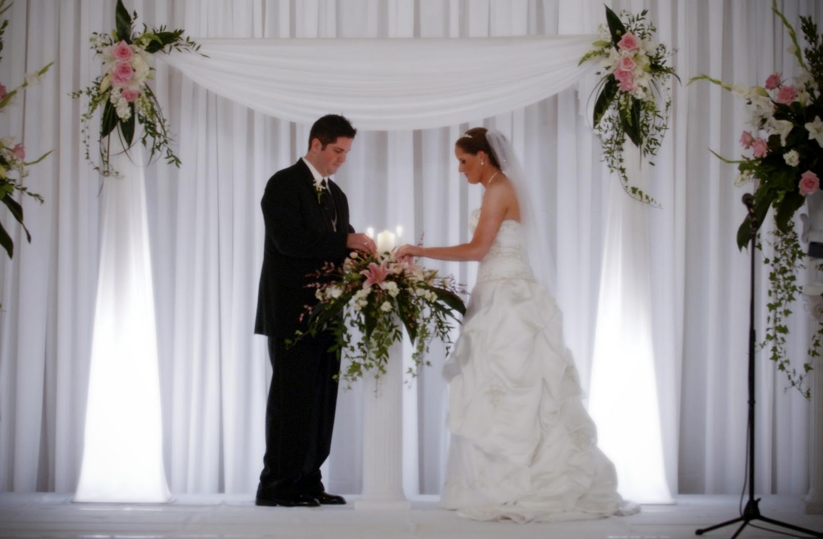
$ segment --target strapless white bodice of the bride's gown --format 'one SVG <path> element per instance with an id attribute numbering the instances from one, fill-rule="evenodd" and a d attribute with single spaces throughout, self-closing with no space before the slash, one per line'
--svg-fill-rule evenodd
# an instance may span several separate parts
<path id="1" fill-rule="evenodd" d="M 472 211 L 470 230 L 474 234 L 480 210 Z M 481 260 L 477 269 L 477 282 L 497 281 L 500 279 L 526 279 L 534 281 L 534 273 L 528 265 L 525 254 L 523 226 L 517 221 L 506 219 L 500 223 L 495 240 L 489 252 Z"/>

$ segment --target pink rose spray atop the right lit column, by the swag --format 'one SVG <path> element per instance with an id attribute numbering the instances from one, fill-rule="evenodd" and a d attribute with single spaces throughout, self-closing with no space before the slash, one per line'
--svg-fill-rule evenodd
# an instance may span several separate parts
<path id="1" fill-rule="evenodd" d="M 670 53 L 666 45 L 652 40 L 657 29 L 646 20 L 647 13 L 621 12 L 617 16 L 606 7 L 608 28 L 600 26 L 601 39 L 593 43 L 594 49 L 580 58 L 579 64 L 600 58 L 600 70 L 595 74 L 602 78 L 595 88 L 592 125 L 609 170 L 620 177 L 631 197 L 653 204 L 648 194 L 630 185 L 623 165 L 626 137 L 642 156 L 657 154 L 672 109 L 669 82 L 670 76 L 677 77 L 677 73 L 667 61 L 674 51 Z"/>

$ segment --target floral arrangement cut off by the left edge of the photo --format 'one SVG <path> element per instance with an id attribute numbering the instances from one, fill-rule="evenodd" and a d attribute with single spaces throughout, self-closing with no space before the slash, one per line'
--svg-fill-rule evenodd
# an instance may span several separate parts
<path id="1" fill-rule="evenodd" d="M 12 4 L 7 4 L 7 0 L 0 0 L 0 16 L 5 14 L 10 7 L 12 7 Z M 0 24 L 0 52 L 2 52 L 2 37 L 6 32 L 7 26 L 8 20 L 4 19 L 2 24 Z M 6 109 L 8 105 L 13 105 L 17 95 L 25 91 L 28 86 L 34 86 L 39 83 L 40 78 L 44 76 L 45 72 L 49 71 L 52 63 L 49 63 L 46 67 L 38 71 L 27 73 L 23 78 L 22 84 L 12 91 L 9 91 L 6 86 L 0 84 L 0 112 Z M 23 224 L 23 207 L 20 202 L 15 200 L 14 194 L 15 191 L 17 191 L 34 198 L 37 202 L 43 202 L 43 197 L 37 193 L 32 193 L 23 185 L 23 179 L 29 174 L 26 167 L 40 163 L 40 161 L 44 160 L 50 153 L 51 151 L 47 151 L 44 155 L 33 161 L 26 161 L 26 148 L 22 142 L 17 142 L 14 137 L 0 138 L 0 202 L 8 208 L 8 211 L 12 212 L 12 216 L 14 216 L 15 220 L 23 227 L 23 231 L 26 232 L 26 239 L 28 239 L 29 242 L 31 241 L 31 234 L 26 228 L 26 225 Z M 0 246 L 6 249 L 8 258 L 14 257 L 14 241 L 12 241 L 12 236 L 9 235 L 8 231 L 3 227 L 2 222 L 0 222 Z"/>

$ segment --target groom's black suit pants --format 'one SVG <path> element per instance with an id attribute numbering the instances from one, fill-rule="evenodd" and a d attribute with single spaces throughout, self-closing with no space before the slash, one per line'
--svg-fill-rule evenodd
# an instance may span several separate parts
<path id="1" fill-rule="evenodd" d="M 332 447 L 337 380 L 337 352 L 328 352 L 333 336 L 319 334 L 286 346 L 268 338 L 272 385 L 266 407 L 266 454 L 258 497 L 323 492 L 320 466 Z"/>

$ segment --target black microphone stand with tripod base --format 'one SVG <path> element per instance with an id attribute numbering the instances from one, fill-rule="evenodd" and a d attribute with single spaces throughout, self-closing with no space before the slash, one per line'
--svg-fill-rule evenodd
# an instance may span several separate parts
<path id="1" fill-rule="evenodd" d="M 743 203 L 749 210 L 749 232 L 751 241 L 749 243 L 749 255 L 751 256 L 750 269 L 750 286 L 749 286 L 749 501 L 746 502 L 746 509 L 743 509 L 741 516 L 727 520 L 724 523 L 715 524 L 714 526 L 700 528 L 696 530 L 697 535 L 703 535 L 705 532 L 711 532 L 718 527 L 728 526 L 729 524 L 742 522 L 737 532 L 734 532 L 732 539 L 740 535 L 746 524 L 752 520 L 762 520 L 765 523 L 774 524 L 775 526 L 787 527 L 795 532 L 807 533 L 811 537 L 823 537 L 823 533 L 807 530 L 804 527 L 794 526 L 793 524 L 782 523 L 774 518 L 767 518 L 760 514 L 760 508 L 757 504 L 760 502 L 758 498 L 755 500 L 755 236 L 757 234 L 757 221 L 755 216 L 755 200 L 751 194 L 743 195 Z M 776 531 L 776 530 L 773 530 Z M 778 532 L 787 533 L 788 532 Z"/>

